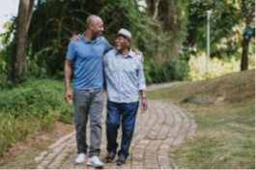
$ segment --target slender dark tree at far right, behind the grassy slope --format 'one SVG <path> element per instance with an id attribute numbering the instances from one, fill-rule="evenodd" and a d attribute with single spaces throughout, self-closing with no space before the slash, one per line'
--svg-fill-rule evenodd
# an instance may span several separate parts
<path id="1" fill-rule="evenodd" d="M 242 40 L 241 71 L 248 70 L 248 47 L 250 36 L 246 36 L 246 34 L 247 31 L 251 31 L 251 24 L 253 23 L 253 18 L 255 17 L 254 7 L 254 0 L 242 0 L 242 16 L 245 20 L 245 32 Z"/>

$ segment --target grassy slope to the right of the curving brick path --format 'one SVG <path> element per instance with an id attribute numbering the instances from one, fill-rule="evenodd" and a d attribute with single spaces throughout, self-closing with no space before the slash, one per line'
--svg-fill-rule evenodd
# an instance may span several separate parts
<path id="1" fill-rule="evenodd" d="M 186 82 L 148 96 L 179 104 L 198 125 L 193 138 L 176 151 L 179 167 L 255 169 L 254 70 Z"/>

